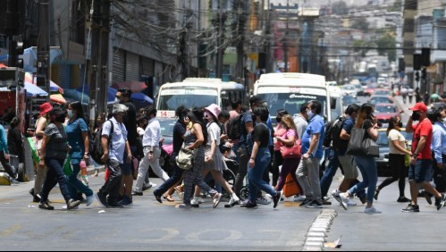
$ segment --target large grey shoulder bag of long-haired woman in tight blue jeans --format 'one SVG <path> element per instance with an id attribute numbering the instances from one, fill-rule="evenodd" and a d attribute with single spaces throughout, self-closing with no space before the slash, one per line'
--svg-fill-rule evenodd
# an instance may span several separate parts
<path id="1" fill-rule="evenodd" d="M 373 139 L 366 138 L 367 131 L 364 129 L 364 123 L 361 129 L 353 128 L 350 134 L 349 145 L 347 147 L 348 155 L 366 155 L 379 157 L 379 146 Z"/>

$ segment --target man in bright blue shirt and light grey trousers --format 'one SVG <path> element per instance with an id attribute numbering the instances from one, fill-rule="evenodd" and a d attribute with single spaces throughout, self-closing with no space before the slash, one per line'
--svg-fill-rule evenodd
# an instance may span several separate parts
<path id="1" fill-rule="evenodd" d="M 306 199 L 300 206 L 322 208 L 321 184 L 319 181 L 319 162 L 324 155 L 324 118 L 322 104 L 317 100 L 310 101 L 307 106 L 309 118 L 307 130 L 302 137 L 302 160 L 298 171 L 298 181 L 304 189 Z"/>

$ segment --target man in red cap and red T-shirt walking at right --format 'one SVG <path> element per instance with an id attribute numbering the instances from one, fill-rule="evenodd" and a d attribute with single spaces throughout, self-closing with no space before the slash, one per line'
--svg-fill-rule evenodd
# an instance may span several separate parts
<path id="1" fill-rule="evenodd" d="M 444 194 L 441 194 L 434 189 L 428 181 L 432 177 L 428 174 L 432 169 L 432 122 L 427 118 L 427 106 L 424 103 L 417 103 L 414 107 L 409 109 L 413 111 L 413 113 L 408 119 L 406 132 L 414 133 L 412 140 L 412 156 L 410 158 L 410 168 L 408 170 L 408 181 L 410 184 L 412 201 L 408 207 L 402 209 L 402 211 L 406 213 L 420 212 L 420 208 L 417 204 L 418 187 L 424 188 L 435 197 L 435 206 L 437 206 L 437 210 L 440 210 L 444 205 Z M 419 123 L 414 125 L 414 121 L 418 121 Z"/>

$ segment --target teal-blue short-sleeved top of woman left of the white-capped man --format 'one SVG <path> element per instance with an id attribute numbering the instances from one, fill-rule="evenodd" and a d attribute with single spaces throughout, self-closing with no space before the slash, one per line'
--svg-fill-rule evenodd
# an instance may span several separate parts
<path id="1" fill-rule="evenodd" d="M 65 129 L 68 135 L 68 144 L 72 147 L 70 156 L 72 159 L 82 159 L 85 153 L 84 141 L 82 139 L 82 132 L 88 132 L 88 125 L 82 118 L 69 121 Z"/>

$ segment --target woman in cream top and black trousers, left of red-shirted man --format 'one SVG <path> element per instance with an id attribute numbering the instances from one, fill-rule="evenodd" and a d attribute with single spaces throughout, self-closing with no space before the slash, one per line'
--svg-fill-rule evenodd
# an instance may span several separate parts
<path id="1" fill-rule="evenodd" d="M 408 171 L 406 169 L 406 155 L 412 155 L 406 147 L 406 139 L 400 133 L 402 128 L 401 118 L 399 116 L 391 117 L 389 121 L 389 129 L 387 129 L 387 136 L 389 139 L 389 167 L 391 167 L 392 176 L 387 178 L 381 183 L 374 192 L 374 199 L 378 200 L 378 194 L 386 186 L 390 185 L 394 181 L 399 182 L 400 197 L 397 202 L 410 202 L 410 199 L 404 196 L 404 189 L 406 188 L 406 176 Z"/>

